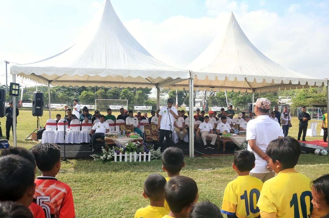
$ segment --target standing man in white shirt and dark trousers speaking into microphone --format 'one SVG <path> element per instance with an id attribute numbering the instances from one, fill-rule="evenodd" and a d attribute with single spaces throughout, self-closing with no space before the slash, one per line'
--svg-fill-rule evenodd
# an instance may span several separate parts
<path id="1" fill-rule="evenodd" d="M 167 106 L 163 106 L 159 112 L 158 129 L 160 129 L 160 143 L 161 150 L 164 151 L 170 147 L 170 136 L 174 128 L 174 120 L 178 119 L 178 112 L 176 108 L 172 107 L 173 100 L 167 100 Z M 166 145 L 164 145 L 164 136 Z"/>

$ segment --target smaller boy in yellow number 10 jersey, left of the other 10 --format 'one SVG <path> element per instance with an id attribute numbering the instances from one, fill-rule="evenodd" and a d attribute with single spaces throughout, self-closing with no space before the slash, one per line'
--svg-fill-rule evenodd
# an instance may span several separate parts
<path id="1" fill-rule="evenodd" d="M 240 150 L 234 154 L 233 169 L 239 177 L 227 184 L 221 209 L 228 218 L 259 217 L 259 208 L 256 204 L 263 182 L 249 175 L 254 167 L 255 155 L 251 151 Z"/>

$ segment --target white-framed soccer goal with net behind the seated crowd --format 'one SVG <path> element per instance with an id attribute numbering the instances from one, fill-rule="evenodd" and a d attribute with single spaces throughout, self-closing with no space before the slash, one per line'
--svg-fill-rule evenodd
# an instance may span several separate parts
<path id="1" fill-rule="evenodd" d="M 106 112 L 108 108 L 111 108 L 113 112 L 119 112 L 120 108 L 128 109 L 128 100 L 119 99 L 96 99 L 95 110 Z"/>

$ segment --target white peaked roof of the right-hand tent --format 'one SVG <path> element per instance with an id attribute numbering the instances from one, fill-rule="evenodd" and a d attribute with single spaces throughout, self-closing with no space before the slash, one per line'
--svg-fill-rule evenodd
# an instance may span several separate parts
<path id="1" fill-rule="evenodd" d="M 327 85 L 326 79 L 316 79 L 286 69 L 267 58 L 247 38 L 233 13 L 224 35 L 219 34 L 188 69 L 195 77 L 194 87 L 273 91 Z M 175 84 L 184 87 L 188 81 Z"/>

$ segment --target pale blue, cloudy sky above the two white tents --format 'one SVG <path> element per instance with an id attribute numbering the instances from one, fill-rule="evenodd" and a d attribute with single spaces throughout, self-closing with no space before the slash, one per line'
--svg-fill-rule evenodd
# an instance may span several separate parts
<path id="1" fill-rule="evenodd" d="M 141 45 L 170 65 L 187 66 L 220 33 L 222 18 L 233 11 L 250 41 L 270 59 L 292 70 L 328 77 L 329 0 L 111 2 Z M 0 0 L 0 4 L 1 75 L 4 60 L 28 63 L 68 48 L 103 1 Z"/>

